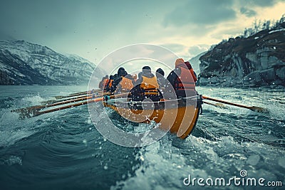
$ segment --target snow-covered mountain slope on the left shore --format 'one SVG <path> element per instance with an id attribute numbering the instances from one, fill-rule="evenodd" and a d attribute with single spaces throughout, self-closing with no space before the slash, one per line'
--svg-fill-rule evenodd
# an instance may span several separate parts
<path id="1" fill-rule="evenodd" d="M 0 85 L 86 85 L 95 65 L 26 41 L 0 41 Z M 96 68 L 98 80 L 103 71 Z"/>

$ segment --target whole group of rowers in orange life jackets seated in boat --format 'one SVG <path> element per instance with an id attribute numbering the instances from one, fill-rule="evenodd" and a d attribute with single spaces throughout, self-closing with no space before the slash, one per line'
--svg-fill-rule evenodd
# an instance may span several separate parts
<path id="1" fill-rule="evenodd" d="M 133 101 L 150 98 L 157 102 L 165 99 L 167 93 L 170 93 L 170 85 L 175 90 L 177 98 L 197 95 L 197 75 L 188 61 L 177 59 L 175 69 L 167 78 L 164 75 L 165 72 L 161 68 L 156 70 L 155 75 L 152 74 L 149 66 L 144 66 L 138 76 L 128 74 L 125 68 L 119 68 L 118 73 L 110 75 L 110 78 L 108 75 L 103 77 L 99 88 L 111 94 L 130 93 L 128 97 Z"/>

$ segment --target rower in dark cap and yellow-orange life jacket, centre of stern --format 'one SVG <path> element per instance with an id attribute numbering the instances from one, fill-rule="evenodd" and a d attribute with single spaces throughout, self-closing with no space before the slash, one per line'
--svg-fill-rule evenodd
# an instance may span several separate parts
<path id="1" fill-rule="evenodd" d="M 130 90 L 131 95 L 129 97 L 133 101 L 150 98 L 150 100 L 157 102 L 162 98 L 158 88 L 157 78 L 151 73 L 150 67 L 145 66 L 142 68 L 142 73 L 139 75 L 135 87 Z"/>

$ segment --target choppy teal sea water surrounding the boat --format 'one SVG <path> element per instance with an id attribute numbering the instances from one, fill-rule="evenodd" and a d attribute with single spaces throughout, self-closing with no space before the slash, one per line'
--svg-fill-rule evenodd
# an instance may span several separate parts
<path id="1" fill-rule="evenodd" d="M 105 139 L 88 107 L 73 107 L 26 120 L 10 110 L 40 105 L 80 86 L 0 86 L 0 189 L 260 189 L 200 186 L 183 181 L 233 176 L 281 181 L 285 186 L 285 90 L 198 88 L 198 92 L 269 113 L 203 105 L 190 137 L 167 134 L 147 147 L 120 147 Z M 112 120 L 120 117 L 109 110 Z M 98 111 L 98 125 L 101 113 Z M 103 122 L 102 122 L 103 123 Z M 133 127 L 140 127 L 135 125 Z M 189 182 L 189 181 L 185 181 Z M 208 180 L 208 182 L 210 182 Z M 269 188 L 269 186 L 266 186 Z"/>

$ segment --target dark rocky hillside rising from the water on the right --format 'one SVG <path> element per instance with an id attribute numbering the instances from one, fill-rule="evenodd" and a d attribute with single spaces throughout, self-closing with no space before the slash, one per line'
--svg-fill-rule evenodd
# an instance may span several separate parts
<path id="1" fill-rule="evenodd" d="M 247 38 L 229 38 L 199 60 L 199 85 L 285 86 L 285 22 Z"/>

